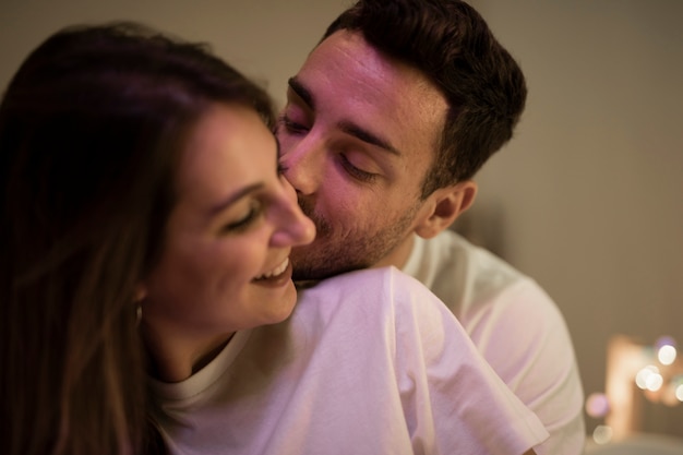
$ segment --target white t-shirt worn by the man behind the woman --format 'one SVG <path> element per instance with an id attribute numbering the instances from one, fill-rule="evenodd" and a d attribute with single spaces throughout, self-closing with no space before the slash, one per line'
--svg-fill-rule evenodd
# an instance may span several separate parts
<path id="1" fill-rule="evenodd" d="M 529 277 L 453 231 L 416 237 L 404 272 L 453 311 L 510 388 L 550 438 L 538 455 L 584 452 L 584 392 L 558 307 Z"/>

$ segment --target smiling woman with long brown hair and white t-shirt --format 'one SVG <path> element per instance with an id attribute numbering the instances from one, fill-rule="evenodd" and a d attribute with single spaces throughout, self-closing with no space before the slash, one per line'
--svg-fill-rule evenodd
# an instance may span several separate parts
<path id="1" fill-rule="evenodd" d="M 142 27 L 28 57 L 0 106 L 5 453 L 518 455 L 547 436 L 394 268 L 292 312 L 289 251 L 314 228 L 272 123 L 263 91 Z"/>

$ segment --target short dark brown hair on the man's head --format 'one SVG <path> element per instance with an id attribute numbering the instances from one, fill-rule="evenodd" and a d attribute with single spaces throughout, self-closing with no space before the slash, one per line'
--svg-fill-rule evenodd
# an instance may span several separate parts
<path id="1" fill-rule="evenodd" d="M 470 179 L 512 137 L 524 110 L 524 74 L 481 15 L 457 0 L 360 0 L 323 39 L 359 32 L 375 49 L 417 68 L 448 103 L 422 197 Z"/>

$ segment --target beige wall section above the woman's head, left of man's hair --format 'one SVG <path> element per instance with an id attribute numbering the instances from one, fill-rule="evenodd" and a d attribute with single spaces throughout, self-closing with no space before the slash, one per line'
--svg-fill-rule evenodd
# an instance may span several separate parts
<path id="1" fill-rule="evenodd" d="M 284 103 L 324 26 L 348 0 L 0 0 L 0 87 L 50 33 L 81 22 L 135 20 L 207 41 Z"/>

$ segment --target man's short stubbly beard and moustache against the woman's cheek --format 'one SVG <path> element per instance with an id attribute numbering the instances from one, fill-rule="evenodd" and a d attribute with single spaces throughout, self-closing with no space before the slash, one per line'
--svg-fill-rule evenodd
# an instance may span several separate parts
<path id="1" fill-rule="evenodd" d="M 403 243 L 418 209 L 416 204 L 398 219 L 372 232 L 357 229 L 335 232 L 332 224 L 314 212 L 312 204 L 299 199 L 299 206 L 315 224 L 316 235 L 313 243 L 297 247 L 291 252 L 295 282 L 320 280 L 373 266 Z"/>

